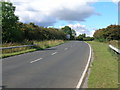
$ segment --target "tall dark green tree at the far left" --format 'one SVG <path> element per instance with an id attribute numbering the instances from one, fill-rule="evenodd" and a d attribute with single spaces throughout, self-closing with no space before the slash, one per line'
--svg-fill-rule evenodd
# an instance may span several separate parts
<path id="1" fill-rule="evenodd" d="M 0 3 L 2 4 L 2 41 L 15 42 L 22 40 L 22 31 L 17 26 L 19 19 L 14 14 L 15 7 L 9 2 L 2 1 Z"/>

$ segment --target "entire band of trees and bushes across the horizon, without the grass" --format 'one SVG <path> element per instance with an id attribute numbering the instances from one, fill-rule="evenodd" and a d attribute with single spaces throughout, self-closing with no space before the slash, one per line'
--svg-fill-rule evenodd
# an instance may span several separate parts
<path id="1" fill-rule="evenodd" d="M 19 17 L 14 14 L 15 6 L 9 2 L 0 2 L 0 27 L 2 27 L 2 42 L 22 42 L 25 40 L 66 40 L 66 36 L 69 35 L 69 39 L 81 40 L 81 41 L 110 41 L 119 40 L 120 38 L 120 25 L 110 25 L 106 28 L 98 29 L 94 33 L 93 37 L 86 37 L 86 34 L 80 34 L 76 37 L 75 30 L 69 26 L 65 26 L 61 29 L 42 27 L 35 25 L 34 23 L 22 23 L 19 22 Z"/>

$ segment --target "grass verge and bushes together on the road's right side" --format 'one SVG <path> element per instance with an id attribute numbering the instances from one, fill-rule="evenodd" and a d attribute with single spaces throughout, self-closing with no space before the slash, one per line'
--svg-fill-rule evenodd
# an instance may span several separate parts
<path id="1" fill-rule="evenodd" d="M 93 62 L 88 88 L 118 88 L 118 58 L 109 44 L 119 48 L 120 25 L 110 25 L 94 33 L 94 41 L 88 41 L 93 49 Z"/>

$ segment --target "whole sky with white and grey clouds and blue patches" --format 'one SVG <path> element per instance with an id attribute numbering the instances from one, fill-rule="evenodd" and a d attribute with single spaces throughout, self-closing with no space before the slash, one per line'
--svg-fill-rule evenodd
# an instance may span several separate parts
<path id="1" fill-rule="evenodd" d="M 70 26 L 77 35 L 118 22 L 118 0 L 10 0 L 21 22 L 60 28 Z"/>

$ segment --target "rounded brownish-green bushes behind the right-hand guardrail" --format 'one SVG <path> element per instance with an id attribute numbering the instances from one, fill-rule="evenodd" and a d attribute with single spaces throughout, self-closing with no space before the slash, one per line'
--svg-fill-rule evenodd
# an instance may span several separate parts
<path id="1" fill-rule="evenodd" d="M 98 29 L 94 33 L 97 41 L 120 40 L 120 25 L 109 25 L 106 28 Z"/>

